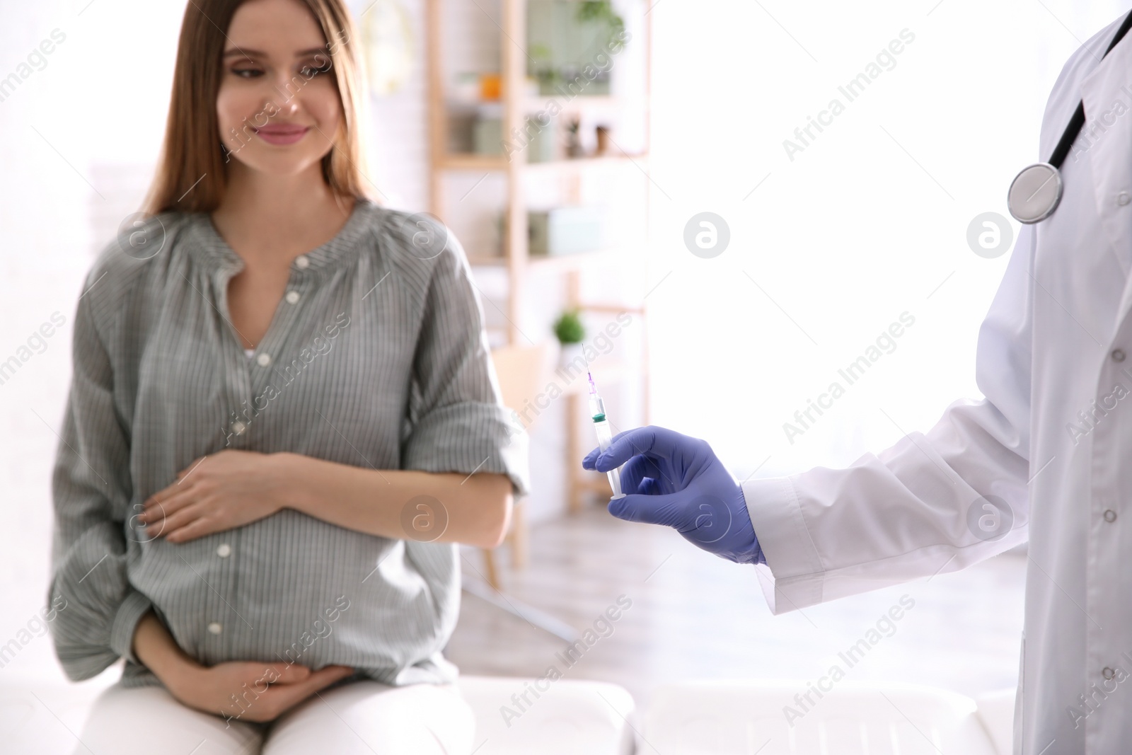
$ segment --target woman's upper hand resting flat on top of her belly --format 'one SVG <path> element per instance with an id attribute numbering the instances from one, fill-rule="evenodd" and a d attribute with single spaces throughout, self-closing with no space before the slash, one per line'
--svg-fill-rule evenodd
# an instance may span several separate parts
<path id="1" fill-rule="evenodd" d="M 280 455 L 225 449 L 203 456 L 144 504 L 151 538 L 185 542 L 256 522 L 282 506 Z"/>

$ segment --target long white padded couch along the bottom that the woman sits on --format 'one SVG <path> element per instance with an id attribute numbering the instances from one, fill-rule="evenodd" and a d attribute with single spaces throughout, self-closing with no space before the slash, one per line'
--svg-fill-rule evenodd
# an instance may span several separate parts
<path id="1" fill-rule="evenodd" d="M 69 755 L 86 711 L 113 674 L 70 684 L 0 675 L 0 752 Z M 521 719 L 500 707 L 533 679 L 463 676 L 475 755 L 1010 755 L 1013 690 L 972 700 L 945 689 L 843 681 L 805 711 L 799 681 L 661 685 L 645 710 L 602 681 L 560 679 Z M 790 717 L 790 705 L 803 713 Z M 509 723 L 509 726 L 508 726 Z M 790 726 L 792 723 L 794 726 Z M 102 754 L 97 754 L 102 755 Z"/>

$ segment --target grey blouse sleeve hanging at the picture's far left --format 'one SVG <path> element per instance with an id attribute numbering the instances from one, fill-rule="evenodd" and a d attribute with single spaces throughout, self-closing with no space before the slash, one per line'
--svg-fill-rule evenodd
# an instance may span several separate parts
<path id="1" fill-rule="evenodd" d="M 84 288 L 89 290 L 89 278 Z M 74 680 L 122 657 L 134 661 L 134 629 L 151 608 L 126 574 L 130 437 L 115 410 L 112 364 L 93 300 L 82 297 L 76 308 L 74 374 L 52 475 L 49 600 L 61 597 L 66 603 L 50 626 L 59 661 Z"/>

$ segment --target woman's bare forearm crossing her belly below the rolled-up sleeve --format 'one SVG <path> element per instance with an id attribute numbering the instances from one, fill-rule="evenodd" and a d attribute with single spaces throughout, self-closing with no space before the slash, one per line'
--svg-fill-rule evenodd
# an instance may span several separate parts
<path id="1" fill-rule="evenodd" d="M 503 474 L 371 470 L 292 453 L 272 456 L 285 482 L 283 505 L 331 524 L 385 538 L 484 548 L 499 544 L 507 532 L 512 486 Z M 427 508 L 414 504 L 406 515 L 405 507 L 418 497 L 427 497 L 417 501 Z M 434 526 L 443 533 L 437 537 Z"/>

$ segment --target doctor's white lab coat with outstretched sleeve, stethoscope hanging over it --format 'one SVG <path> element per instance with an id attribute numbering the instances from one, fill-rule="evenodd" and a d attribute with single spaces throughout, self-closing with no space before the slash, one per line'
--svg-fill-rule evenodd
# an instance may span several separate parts
<path id="1" fill-rule="evenodd" d="M 1035 157 L 1049 158 L 1082 100 L 1086 127 L 1061 206 L 1022 228 L 979 331 L 986 398 L 849 469 L 743 486 L 774 614 L 959 569 L 1028 535 L 1014 720 L 1027 755 L 1132 752 L 1132 34 L 1098 62 L 1122 18 L 1070 58 L 1046 106 Z M 1013 524 L 983 540 L 969 509 L 990 496 Z"/>

